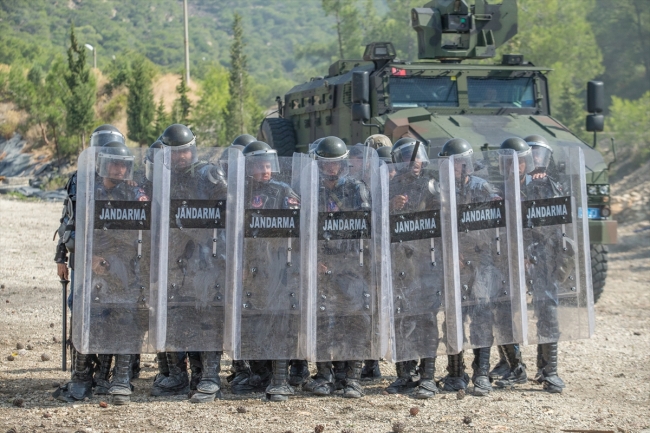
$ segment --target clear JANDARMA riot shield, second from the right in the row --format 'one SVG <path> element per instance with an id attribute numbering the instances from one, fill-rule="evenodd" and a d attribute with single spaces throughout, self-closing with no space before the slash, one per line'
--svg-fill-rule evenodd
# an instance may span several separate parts
<path id="1" fill-rule="evenodd" d="M 452 167 L 440 170 L 441 193 L 455 202 L 445 209 L 450 215 L 442 223 L 443 242 L 457 248 L 457 255 L 443 258 L 458 290 L 464 349 L 523 339 L 519 182 L 513 158 L 511 151 L 483 152 L 476 160 L 452 156 Z"/>

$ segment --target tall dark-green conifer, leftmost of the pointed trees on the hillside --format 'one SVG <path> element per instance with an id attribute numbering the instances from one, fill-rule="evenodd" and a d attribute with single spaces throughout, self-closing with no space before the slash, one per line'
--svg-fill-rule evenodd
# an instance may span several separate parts
<path id="1" fill-rule="evenodd" d="M 95 79 L 86 66 L 86 52 L 77 43 L 74 24 L 70 26 L 68 70 L 64 75 L 70 93 L 65 98 L 67 116 L 66 130 L 69 135 L 79 135 L 82 147 L 95 121 Z"/>

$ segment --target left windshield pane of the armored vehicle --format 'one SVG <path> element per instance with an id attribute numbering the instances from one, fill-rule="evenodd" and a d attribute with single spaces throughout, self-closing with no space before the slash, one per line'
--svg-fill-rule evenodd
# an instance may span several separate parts
<path id="1" fill-rule="evenodd" d="M 451 77 L 390 77 L 388 85 L 394 108 L 458 107 L 456 80 Z"/>

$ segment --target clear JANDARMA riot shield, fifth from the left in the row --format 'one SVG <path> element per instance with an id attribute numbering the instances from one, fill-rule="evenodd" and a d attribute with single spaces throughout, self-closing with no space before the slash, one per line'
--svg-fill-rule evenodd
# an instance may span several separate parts
<path id="1" fill-rule="evenodd" d="M 392 167 L 385 229 L 392 287 L 388 356 L 396 362 L 447 353 L 446 320 L 454 320 L 455 311 L 446 311 L 438 165 Z"/>

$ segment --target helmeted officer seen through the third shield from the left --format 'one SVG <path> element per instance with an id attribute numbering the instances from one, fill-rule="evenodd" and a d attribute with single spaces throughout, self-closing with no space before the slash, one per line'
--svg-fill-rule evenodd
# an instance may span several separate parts
<path id="1" fill-rule="evenodd" d="M 262 141 L 253 141 L 246 145 L 242 153 L 246 162 L 244 208 L 249 213 L 263 215 L 265 209 L 281 211 L 300 208 L 298 195 L 287 183 L 276 179 L 285 173 L 281 173 L 277 152 L 271 146 Z M 255 220 L 253 217 L 251 219 Z M 287 381 L 289 360 L 278 358 L 297 353 L 300 324 L 299 320 L 290 317 L 299 316 L 292 315 L 294 310 L 287 300 L 291 299 L 288 295 L 295 294 L 300 287 L 300 272 L 299 267 L 291 264 L 291 260 L 287 262 L 286 238 L 274 239 L 267 237 L 271 235 L 265 232 L 256 233 L 245 236 L 244 268 L 255 269 L 255 272 L 246 274 L 243 282 L 249 308 L 242 311 L 240 338 L 242 346 L 272 346 L 251 349 L 248 353 L 267 353 L 276 357 L 271 360 L 272 376 L 266 396 L 270 401 L 285 401 L 293 395 L 293 388 Z M 280 236 L 280 233 L 274 235 Z M 291 266 L 287 266 L 287 263 Z M 272 334 L 263 331 L 267 326 L 272 329 Z M 292 335 L 295 338 L 291 338 Z M 251 365 L 252 361 L 248 362 Z M 296 364 L 299 367 L 298 361 Z"/>

